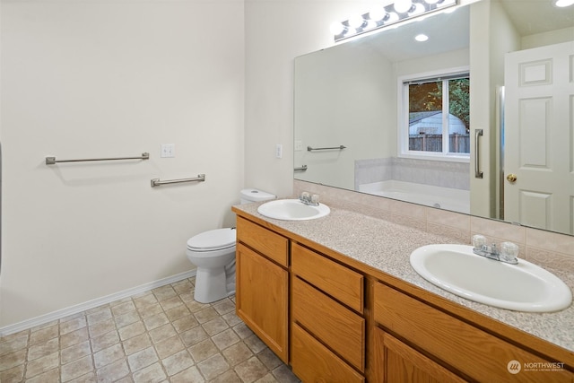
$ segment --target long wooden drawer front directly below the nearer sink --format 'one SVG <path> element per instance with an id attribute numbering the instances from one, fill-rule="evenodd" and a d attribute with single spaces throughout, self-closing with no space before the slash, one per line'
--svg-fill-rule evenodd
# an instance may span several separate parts
<path id="1" fill-rule="evenodd" d="M 376 322 L 471 379 L 571 383 L 574 378 L 568 370 L 512 374 L 511 361 L 521 366 L 548 361 L 383 283 L 375 283 L 374 300 Z"/>

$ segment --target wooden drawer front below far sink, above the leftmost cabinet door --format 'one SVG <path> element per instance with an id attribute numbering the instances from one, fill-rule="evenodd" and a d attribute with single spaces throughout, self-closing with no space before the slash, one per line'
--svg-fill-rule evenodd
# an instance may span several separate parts
<path id="1" fill-rule="evenodd" d="M 279 265 L 289 265 L 289 240 L 257 223 L 237 217 L 237 239 Z"/>

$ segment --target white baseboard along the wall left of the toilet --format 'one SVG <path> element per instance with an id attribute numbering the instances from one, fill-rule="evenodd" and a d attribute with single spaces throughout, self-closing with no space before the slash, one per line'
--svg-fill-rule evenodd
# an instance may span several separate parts
<path id="1" fill-rule="evenodd" d="M 196 269 L 190 270 L 186 273 L 171 275 L 167 278 L 163 278 L 150 283 L 144 283 L 140 286 L 136 286 L 131 289 L 124 290 L 122 292 L 115 292 L 113 294 L 106 295 L 105 297 L 97 298 L 95 300 L 88 300 L 86 302 L 71 306 L 66 309 L 58 309 L 57 311 L 53 311 L 36 318 L 27 319 L 10 326 L 0 327 L 0 336 L 11 335 L 23 330 L 27 330 L 31 327 L 41 326 L 54 320 L 77 314 L 87 309 L 93 309 L 98 306 L 113 302 L 115 300 L 122 300 L 124 298 L 131 297 L 132 295 L 139 294 L 141 292 L 147 292 L 149 290 L 165 286 L 166 284 L 175 283 L 187 278 L 191 278 L 193 276 L 196 276 Z"/>

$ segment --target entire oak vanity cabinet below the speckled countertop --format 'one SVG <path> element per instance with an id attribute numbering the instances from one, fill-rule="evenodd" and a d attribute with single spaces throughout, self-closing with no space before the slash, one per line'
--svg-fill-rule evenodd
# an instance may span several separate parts
<path id="1" fill-rule="evenodd" d="M 256 222 L 238 215 L 237 314 L 302 381 L 574 383 L 560 347 Z"/>

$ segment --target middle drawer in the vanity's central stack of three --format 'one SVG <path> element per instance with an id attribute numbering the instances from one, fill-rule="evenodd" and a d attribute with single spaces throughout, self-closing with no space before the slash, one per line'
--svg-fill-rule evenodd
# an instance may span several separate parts
<path id="1" fill-rule="evenodd" d="M 292 320 L 364 371 L 365 319 L 298 277 L 292 278 L 291 297 Z"/>

